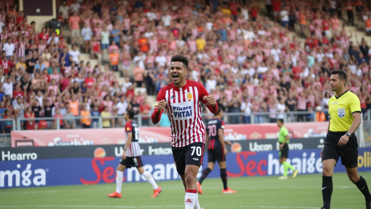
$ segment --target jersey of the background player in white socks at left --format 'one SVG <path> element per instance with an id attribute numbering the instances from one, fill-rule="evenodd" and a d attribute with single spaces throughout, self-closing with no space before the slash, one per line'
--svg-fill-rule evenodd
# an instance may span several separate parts
<path id="1" fill-rule="evenodd" d="M 128 132 L 132 133 L 132 139 L 131 144 L 127 149 L 126 157 L 139 157 L 142 155 L 142 152 L 140 151 L 139 146 L 139 128 L 136 123 L 134 123 L 132 120 L 128 121 L 125 124 L 125 135 L 126 138 L 128 138 Z"/>

